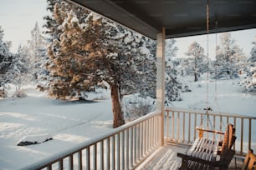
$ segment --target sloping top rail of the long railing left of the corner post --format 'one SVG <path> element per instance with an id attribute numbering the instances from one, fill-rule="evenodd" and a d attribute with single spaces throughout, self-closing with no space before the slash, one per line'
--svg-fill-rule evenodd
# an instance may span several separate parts
<path id="1" fill-rule="evenodd" d="M 160 111 L 151 112 L 151 113 L 147 114 L 146 116 L 143 116 L 143 117 L 140 117 L 140 118 L 136 119 L 135 121 L 128 122 L 128 123 L 126 123 L 125 125 L 123 125 L 119 128 L 113 129 L 113 131 L 111 131 L 110 133 L 105 133 L 105 134 L 101 135 L 98 138 L 93 138 L 93 139 L 90 139 L 90 140 L 85 141 L 83 143 L 79 143 L 79 144 L 75 145 L 73 148 L 66 149 L 65 151 L 60 152 L 58 154 L 54 154 L 53 156 L 50 156 L 48 158 L 45 158 L 43 160 L 38 161 L 37 163 L 33 163 L 31 165 L 28 165 L 28 167 L 21 168 L 21 170 L 44 168 L 45 165 L 58 162 L 61 158 L 69 157 L 69 155 L 72 155 L 73 153 L 76 153 L 79 150 L 82 150 L 84 148 L 88 148 L 88 147 L 90 147 L 91 145 L 93 145 L 95 143 L 99 143 L 100 141 L 103 141 L 106 138 L 114 136 L 115 134 L 120 133 L 122 131 L 125 131 L 128 128 L 134 127 L 137 124 L 139 124 L 143 121 L 146 121 L 147 119 L 149 119 L 151 117 L 155 117 L 156 115 L 159 115 L 159 114 L 161 114 Z"/>

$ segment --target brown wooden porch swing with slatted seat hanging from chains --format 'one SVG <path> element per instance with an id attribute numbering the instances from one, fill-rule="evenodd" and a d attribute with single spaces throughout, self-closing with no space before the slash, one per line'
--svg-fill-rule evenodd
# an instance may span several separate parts
<path id="1" fill-rule="evenodd" d="M 197 130 L 199 130 L 199 138 L 188 148 L 187 153 L 177 153 L 177 157 L 182 158 L 182 166 L 179 169 L 214 169 L 214 167 L 227 169 L 235 154 L 232 150 L 236 140 L 233 125 L 228 124 L 225 133 L 202 128 Z M 224 135 L 223 140 L 217 142 L 203 138 L 203 132 Z"/>

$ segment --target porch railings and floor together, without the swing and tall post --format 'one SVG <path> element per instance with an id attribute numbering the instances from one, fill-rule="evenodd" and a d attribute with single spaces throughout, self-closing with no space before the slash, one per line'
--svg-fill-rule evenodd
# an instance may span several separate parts
<path id="1" fill-rule="evenodd" d="M 185 153 L 197 138 L 196 127 L 207 116 L 206 127 L 223 131 L 223 123 L 233 123 L 237 140 L 236 155 L 230 168 L 238 168 L 248 148 L 255 149 L 256 117 L 166 108 L 166 112 L 151 112 L 99 138 L 53 155 L 23 169 L 175 169 L 181 164 L 177 153 Z M 211 122 L 211 123 L 210 123 Z M 218 139 L 207 134 L 207 138 Z"/>

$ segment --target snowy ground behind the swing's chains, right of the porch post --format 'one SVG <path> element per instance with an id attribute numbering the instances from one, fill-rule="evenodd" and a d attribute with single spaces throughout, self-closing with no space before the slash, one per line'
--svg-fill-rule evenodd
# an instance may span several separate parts
<path id="1" fill-rule="evenodd" d="M 204 75 L 206 76 L 206 75 Z M 183 102 L 172 102 L 173 107 L 203 110 L 207 107 L 207 82 L 193 82 L 192 77 L 181 80 L 187 82 L 192 92 L 181 94 Z M 215 112 L 237 113 L 255 117 L 256 93 L 244 92 L 244 88 L 237 84 L 237 80 L 210 80 L 208 83 L 208 107 Z M 216 90 L 215 90 L 216 89 Z"/>

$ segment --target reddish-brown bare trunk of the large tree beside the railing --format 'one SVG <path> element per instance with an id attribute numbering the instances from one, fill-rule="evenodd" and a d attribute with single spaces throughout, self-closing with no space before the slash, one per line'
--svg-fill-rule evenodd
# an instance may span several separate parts
<path id="1" fill-rule="evenodd" d="M 120 95 L 117 85 L 114 83 L 110 85 L 112 98 L 112 112 L 113 112 L 113 128 L 120 127 L 125 124 L 124 113 L 120 106 Z"/>

